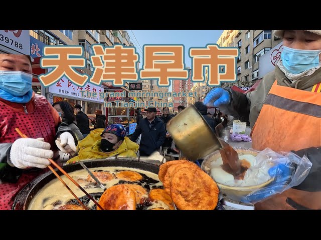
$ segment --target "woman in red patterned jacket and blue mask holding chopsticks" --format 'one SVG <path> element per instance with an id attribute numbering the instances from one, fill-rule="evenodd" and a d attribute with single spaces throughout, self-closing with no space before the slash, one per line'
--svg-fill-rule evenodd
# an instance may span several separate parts
<path id="1" fill-rule="evenodd" d="M 48 158 L 59 157 L 58 148 L 76 150 L 75 135 L 60 123 L 46 97 L 32 90 L 30 56 L 0 54 L 0 209 L 12 208 L 16 194 L 50 164 Z M 29 138 L 21 138 L 16 127 Z"/>

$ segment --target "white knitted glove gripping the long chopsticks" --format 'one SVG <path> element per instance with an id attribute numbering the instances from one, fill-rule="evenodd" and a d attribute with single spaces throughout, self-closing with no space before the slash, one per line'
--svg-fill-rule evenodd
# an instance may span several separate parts
<path id="1" fill-rule="evenodd" d="M 19 138 L 14 141 L 10 150 L 10 161 L 18 168 L 34 166 L 45 168 L 50 164 L 54 152 L 44 138 Z"/>

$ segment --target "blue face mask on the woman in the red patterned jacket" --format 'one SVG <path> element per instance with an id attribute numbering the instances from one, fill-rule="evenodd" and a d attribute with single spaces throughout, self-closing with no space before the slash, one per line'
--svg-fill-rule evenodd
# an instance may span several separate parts
<path id="1" fill-rule="evenodd" d="M 32 74 L 0 70 L 0 88 L 13 96 L 23 96 L 32 90 Z"/>

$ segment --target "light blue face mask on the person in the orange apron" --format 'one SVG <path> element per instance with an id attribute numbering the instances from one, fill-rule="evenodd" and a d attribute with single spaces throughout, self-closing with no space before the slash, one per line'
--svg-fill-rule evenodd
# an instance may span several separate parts
<path id="1" fill-rule="evenodd" d="M 318 66 L 321 50 L 301 50 L 283 46 L 281 59 L 283 66 L 293 74 Z"/>

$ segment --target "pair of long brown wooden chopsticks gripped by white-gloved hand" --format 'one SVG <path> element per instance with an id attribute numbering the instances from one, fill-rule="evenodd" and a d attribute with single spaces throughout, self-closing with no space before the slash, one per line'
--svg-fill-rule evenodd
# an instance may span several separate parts
<path id="1" fill-rule="evenodd" d="M 15 130 L 19 133 L 19 135 L 23 138 L 28 138 L 27 135 L 25 135 L 24 133 L 22 133 L 19 128 L 15 128 Z M 53 159 L 48 158 L 48 160 L 54 165 L 56 166 L 65 176 L 68 177 L 69 180 L 71 180 L 80 190 L 82 190 L 97 206 L 99 206 L 100 209 L 103 209 L 103 207 L 101 207 L 101 205 L 95 200 L 95 198 L 93 198 L 84 188 L 82 188 L 63 168 L 61 168 Z M 67 189 L 70 191 L 70 193 L 76 197 L 77 201 L 85 207 L 85 209 L 88 210 L 88 207 L 86 207 L 84 205 L 84 203 L 82 203 L 82 201 L 75 195 L 75 193 L 70 189 L 70 187 L 64 182 L 64 180 L 58 175 L 58 173 L 54 170 L 54 168 L 52 168 L 52 166 L 48 165 L 49 169 L 58 177 L 58 179 L 67 187 Z"/>

